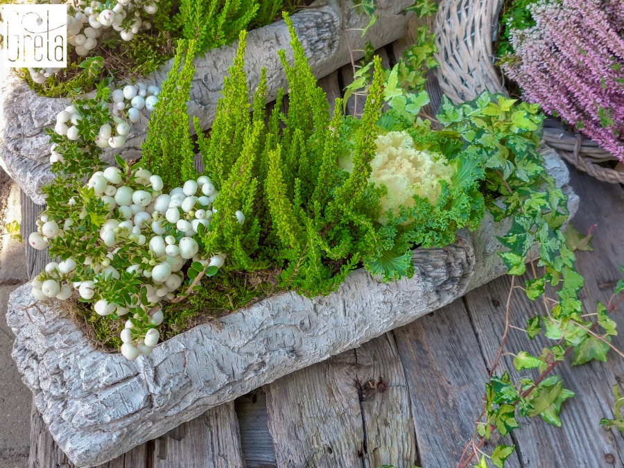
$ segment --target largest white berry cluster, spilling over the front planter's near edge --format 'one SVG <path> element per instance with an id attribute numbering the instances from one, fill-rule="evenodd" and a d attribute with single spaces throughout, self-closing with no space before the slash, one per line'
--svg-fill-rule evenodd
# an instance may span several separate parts
<path id="1" fill-rule="evenodd" d="M 70 257 L 60 263 L 48 263 L 33 281 L 33 297 L 67 300 L 73 291 L 78 291 L 84 300 L 94 302 L 99 315 L 132 313 L 141 327 L 132 320 L 125 323 L 121 354 L 135 359 L 149 354 L 158 342 L 155 327 L 163 320 L 159 304 L 175 299 L 189 288 L 184 267 L 198 262 L 203 268 L 220 268 L 225 262 L 224 254 L 200 252 L 198 243 L 198 232 L 209 229 L 218 192 L 208 177 L 200 176 L 185 182 L 184 187 L 163 193 L 161 177 L 143 168 L 128 169 L 124 174 L 119 168 L 108 167 L 94 173 L 87 187 L 108 209 L 98 232 L 98 244 L 104 245 L 107 253 L 98 258 L 85 257 L 81 262 Z M 68 204 L 80 209 L 76 198 Z M 241 211 L 235 216 L 239 223 L 244 223 Z M 85 218 L 91 222 L 83 207 L 80 220 Z M 37 226 L 37 232 L 28 236 L 28 243 L 40 250 L 57 237 L 71 238 L 84 232 L 80 222 L 69 218 L 53 220 L 46 212 L 37 220 Z M 132 295 L 130 303 L 110 302 L 103 297 L 107 282 L 120 279 L 123 270 L 140 279 L 139 291 Z M 141 291 L 146 293 L 147 301 L 141 301 Z"/>

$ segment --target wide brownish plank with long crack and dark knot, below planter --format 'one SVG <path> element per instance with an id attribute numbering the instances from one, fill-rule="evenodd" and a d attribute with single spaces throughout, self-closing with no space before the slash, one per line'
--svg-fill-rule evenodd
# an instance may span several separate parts
<path id="1" fill-rule="evenodd" d="M 417 459 L 391 335 L 265 387 L 278 467 L 410 467 Z"/>

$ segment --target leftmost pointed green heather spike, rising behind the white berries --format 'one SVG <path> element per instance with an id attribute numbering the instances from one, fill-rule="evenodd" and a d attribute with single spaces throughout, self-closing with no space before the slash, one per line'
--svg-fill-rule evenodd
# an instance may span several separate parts
<path id="1" fill-rule="evenodd" d="M 162 85 L 162 96 L 150 117 L 147 139 L 141 147 L 144 167 L 162 174 L 168 187 L 178 187 L 196 176 L 187 114 L 196 46 L 195 41 L 180 40 L 171 70 Z"/>

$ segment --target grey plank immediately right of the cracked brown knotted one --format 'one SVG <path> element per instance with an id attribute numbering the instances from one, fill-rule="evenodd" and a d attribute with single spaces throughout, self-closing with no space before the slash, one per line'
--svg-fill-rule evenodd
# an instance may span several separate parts
<path id="1" fill-rule="evenodd" d="M 487 380 L 462 300 L 393 334 L 410 391 L 419 462 L 425 468 L 456 466 L 474 431 Z M 505 465 L 519 466 L 513 456 Z"/>

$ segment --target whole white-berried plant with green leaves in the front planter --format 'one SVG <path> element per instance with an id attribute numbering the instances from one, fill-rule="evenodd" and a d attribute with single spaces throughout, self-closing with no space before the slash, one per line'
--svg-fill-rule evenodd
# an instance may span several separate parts
<path id="1" fill-rule="evenodd" d="M 103 148 L 123 145 L 137 112 L 153 110 L 159 92 L 140 83 L 113 92 L 105 85 L 95 98 L 76 100 L 60 112 L 49 129 L 58 177 L 45 189 L 48 209 L 28 243 L 48 248 L 60 261 L 34 279 L 33 296 L 79 297 L 114 318 L 129 313 L 121 352 L 134 359 L 149 354 L 159 339 L 160 304 L 187 295 L 194 280 L 223 266 L 225 256 L 198 243 L 218 196 L 208 177 L 164 193 L 162 178 L 140 164 L 116 157 L 119 168 L 101 167 Z M 234 216 L 244 222 L 241 212 Z"/>

